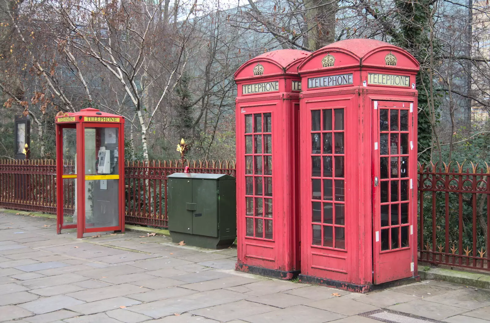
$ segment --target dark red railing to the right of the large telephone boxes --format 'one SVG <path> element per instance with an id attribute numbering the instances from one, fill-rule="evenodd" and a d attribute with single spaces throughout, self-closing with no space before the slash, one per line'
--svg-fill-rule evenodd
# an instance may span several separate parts
<path id="1" fill-rule="evenodd" d="M 489 176 L 488 164 L 419 165 L 420 261 L 490 271 Z"/>

